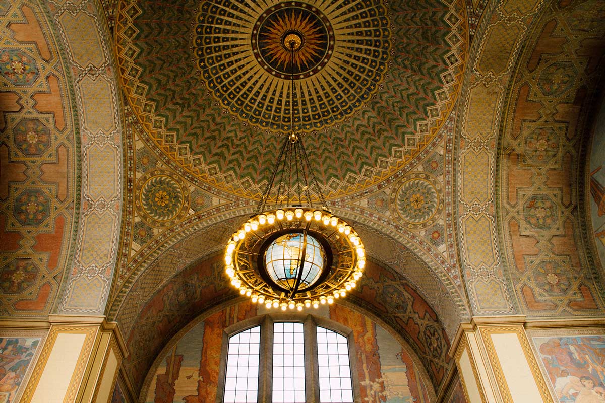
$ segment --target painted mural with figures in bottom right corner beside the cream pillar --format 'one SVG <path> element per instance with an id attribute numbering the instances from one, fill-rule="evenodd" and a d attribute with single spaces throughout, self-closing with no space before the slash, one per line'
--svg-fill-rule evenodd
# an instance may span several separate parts
<path id="1" fill-rule="evenodd" d="M 559 403 L 605 402 L 605 335 L 533 341 Z"/>

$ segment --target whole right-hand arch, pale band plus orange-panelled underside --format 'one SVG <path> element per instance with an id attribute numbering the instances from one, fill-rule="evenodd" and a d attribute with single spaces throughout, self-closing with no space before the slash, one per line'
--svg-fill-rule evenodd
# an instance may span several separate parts
<path id="1" fill-rule="evenodd" d="M 477 27 L 456 127 L 457 244 L 474 315 L 594 315 L 603 308 L 603 286 L 590 273 L 590 251 L 583 253 L 586 230 L 572 213 L 584 208 L 575 181 L 583 173 L 572 161 L 585 147 L 572 143 L 584 131 L 600 63 L 583 41 L 602 36 L 602 27 L 584 30 L 595 24 L 586 7 L 599 6 L 528 2 L 512 9 L 494 1 Z M 560 63 L 555 54 L 567 58 L 566 74 L 583 79 L 540 88 Z M 532 149 L 531 137 L 540 135 L 560 141 L 557 150 Z M 546 208 L 549 223 L 531 224 L 532 200 L 553 207 Z"/>

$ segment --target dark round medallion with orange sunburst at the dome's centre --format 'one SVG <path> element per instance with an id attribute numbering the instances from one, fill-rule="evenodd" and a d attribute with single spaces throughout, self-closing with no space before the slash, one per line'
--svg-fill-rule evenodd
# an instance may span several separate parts
<path id="1" fill-rule="evenodd" d="M 306 3 L 283 2 L 252 28 L 252 54 L 275 77 L 304 79 L 318 73 L 334 51 L 330 20 Z"/>

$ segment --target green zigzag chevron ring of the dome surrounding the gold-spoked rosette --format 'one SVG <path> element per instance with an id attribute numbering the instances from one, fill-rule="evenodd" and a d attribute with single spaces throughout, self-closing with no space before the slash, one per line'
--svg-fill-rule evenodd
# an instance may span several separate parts
<path id="1" fill-rule="evenodd" d="M 176 0 L 121 6 L 116 42 L 125 92 L 147 141 L 160 148 L 172 168 L 192 181 L 258 198 L 280 141 L 234 115 L 207 86 L 195 46 L 200 7 Z M 357 192 L 403 169 L 434 137 L 457 99 L 468 41 L 462 2 L 392 2 L 388 8 L 390 61 L 382 82 L 379 77 L 375 82 L 376 92 L 365 100 L 350 98 L 352 114 L 340 123 L 324 121 L 308 134 L 311 163 L 329 198 Z M 354 60 L 339 63 L 362 68 L 353 66 Z M 327 86 L 313 91 L 324 91 L 324 100 L 333 97 Z M 301 103 L 312 107 L 314 99 Z M 388 166 L 383 162 L 379 169 L 381 160 Z"/>

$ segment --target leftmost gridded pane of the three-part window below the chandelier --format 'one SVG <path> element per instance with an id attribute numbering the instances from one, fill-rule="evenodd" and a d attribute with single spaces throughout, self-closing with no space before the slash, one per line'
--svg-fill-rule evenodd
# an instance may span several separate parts
<path id="1" fill-rule="evenodd" d="M 229 338 L 224 403 L 257 403 L 260 326 Z"/>

